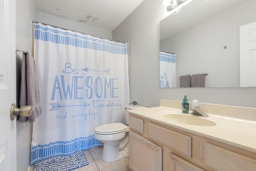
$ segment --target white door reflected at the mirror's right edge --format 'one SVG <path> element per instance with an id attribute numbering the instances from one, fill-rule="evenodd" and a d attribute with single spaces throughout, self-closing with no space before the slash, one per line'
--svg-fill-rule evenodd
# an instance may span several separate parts
<path id="1" fill-rule="evenodd" d="M 256 22 L 240 27 L 240 87 L 256 87 Z"/>

